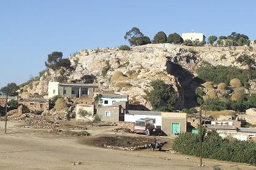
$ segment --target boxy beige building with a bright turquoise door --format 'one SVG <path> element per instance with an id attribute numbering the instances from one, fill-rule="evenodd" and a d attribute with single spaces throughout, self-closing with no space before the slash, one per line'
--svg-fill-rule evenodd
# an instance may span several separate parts
<path id="1" fill-rule="evenodd" d="M 187 132 L 187 114 L 162 112 L 162 135 Z"/>

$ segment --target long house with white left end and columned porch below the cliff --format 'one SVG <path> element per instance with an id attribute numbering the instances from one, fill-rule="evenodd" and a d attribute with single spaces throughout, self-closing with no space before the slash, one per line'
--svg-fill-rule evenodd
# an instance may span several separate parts
<path id="1" fill-rule="evenodd" d="M 61 95 L 69 98 L 93 98 L 96 89 L 98 89 L 98 84 L 49 82 L 48 97 Z"/>

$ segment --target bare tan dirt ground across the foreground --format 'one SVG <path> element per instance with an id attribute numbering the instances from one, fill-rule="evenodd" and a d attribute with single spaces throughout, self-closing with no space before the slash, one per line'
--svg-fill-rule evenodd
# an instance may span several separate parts
<path id="1" fill-rule="evenodd" d="M 71 126 L 71 125 L 70 125 Z M 115 127 L 88 127 L 73 131 L 87 131 L 87 137 L 63 136 L 49 133 L 47 129 L 23 128 L 20 123 L 8 122 L 4 134 L 4 121 L 0 121 L 0 169 L 256 169 L 255 166 L 227 161 L 203 159 L 204 167 L 199 168 L 199 158 L 176 154 L 169 151 L 172 138 L 163 137 L 167 144 L 159 151 L 123 151 L 87 145 L 104 135 L 137 134 L 112 132 Z M 151 137 L 152 139 L 154 137 Z M 82 142 L 83 141 L 83 142 Z M 80 162 L 80 165 L 77 164 Z"/>

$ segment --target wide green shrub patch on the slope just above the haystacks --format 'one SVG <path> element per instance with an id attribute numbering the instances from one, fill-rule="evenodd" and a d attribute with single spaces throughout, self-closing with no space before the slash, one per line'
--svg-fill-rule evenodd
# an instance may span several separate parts
<path id="1" fill-rule="evenodd" d="M 229 84 L 229 81 L 233 78 L 238 78 L 243 84 L 248 81 L 246 70 L 236 67 L 206 65 L 199 67 L 196 72 L 198 77 L 202 80 L 212 81 L 215 84 Z"/>

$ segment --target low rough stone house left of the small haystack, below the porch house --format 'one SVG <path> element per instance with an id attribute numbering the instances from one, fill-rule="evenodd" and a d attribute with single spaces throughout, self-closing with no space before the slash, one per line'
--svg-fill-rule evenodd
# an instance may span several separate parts
<path id="1" fill-rule="evenodd" d="M 23 106 L 32 111 L 49 110 L 50 105 L 49 100 L 45 98 L 21 98 L 18 103 L 23 104 Z"/>

